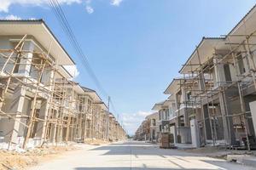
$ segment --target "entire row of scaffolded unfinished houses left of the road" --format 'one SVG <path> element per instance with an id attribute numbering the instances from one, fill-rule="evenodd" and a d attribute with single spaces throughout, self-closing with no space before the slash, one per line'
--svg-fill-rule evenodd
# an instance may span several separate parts
<path id="1" fill-rule="evenodd" d="M 43 20 L 0 20 L 0 142 L 125 139 L 96 91 L 71 81 L 65 65 L 75 64 Z"/>

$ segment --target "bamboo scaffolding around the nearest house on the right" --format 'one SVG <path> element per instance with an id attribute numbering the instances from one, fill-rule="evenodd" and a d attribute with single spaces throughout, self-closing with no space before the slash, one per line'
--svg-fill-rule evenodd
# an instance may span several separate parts
<path id="1" fill-rule="evenodd" d="M 243 26 L 246 30 L 245 23 Z M 237 38 L 234 37 L 242 39 L 237 42 Z M 252 90 L 251 94 L 256 89 L 254 60 L 256 43 L 253 38 L 255 31 L 220 38 L 223 39 L 226 50 L 215 49 L 212 57 L 207 58 L 205 63 L 201 63 L 201 58 L 207 56 L 201 56 L 200 48 L 196 47 L 198 63 L 190 61 L 184 65 L 191 70 L 183 73 L 179 85 L 192 92 L 191 99 L 185 101 L 185 105 L 193 105 L 194 113 L 190 116 L 196 118 L 203 127 L 201 139 L 204 143 L 207 139 L 212 139 L 215 145 L 218 139 L 228 137 L 226 144 L 235 147 L 240 145 L 237 144 L 238 134 L 244 133 L 245 139 L 242 141 L 246 144 L 247 150 L 251 148 L 250 137 L 255 137 L 255 132 L 253 133 L 251 129 L 252 117 L 246 108 L 248 101 L 246 102 L 245 98 L 250 94 L 248 89 Z M 193 69 L 193 66 L 197 68 Z M 220 66 L 223 68 L 222 71 Z M 237 107 L 231 103 L 240 106 L 238 111 L 231 110 L 230 107 Z M 208 132 L 207 126 L 210 129 Z"/>

